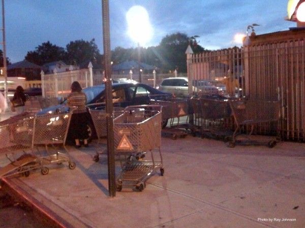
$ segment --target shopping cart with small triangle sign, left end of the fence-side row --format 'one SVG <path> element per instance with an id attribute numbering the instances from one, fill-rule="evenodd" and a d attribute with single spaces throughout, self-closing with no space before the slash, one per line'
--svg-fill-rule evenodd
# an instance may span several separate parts
<path id="1" fill-rule="evenodd" d="M 170 135 L 172 139 L 186 137 L 191 128 L 189 121 L 189 99 L 170 98 L 167 100 L 150 100 L 151 104 L 162 106 L 162 133 Z M 185 122 L 180 122 L 181 117 L 187 117 Z M 170 121 L 169 127 L 166 124 Z M 185 130 L 182 130 L 185 129 Z"/>

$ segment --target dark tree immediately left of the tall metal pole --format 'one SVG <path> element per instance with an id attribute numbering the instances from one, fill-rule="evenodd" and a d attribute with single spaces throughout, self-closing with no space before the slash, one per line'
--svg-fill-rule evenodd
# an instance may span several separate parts
<path id="1" fill-rule="evenodd" d="M 101 63 L 102 55 L 95 43 L 95 39 L 90 42 L 77 40 L 71 41 L 67 46 L 66 63 L 71 65 L 80 65 L 86 61 Z"/>

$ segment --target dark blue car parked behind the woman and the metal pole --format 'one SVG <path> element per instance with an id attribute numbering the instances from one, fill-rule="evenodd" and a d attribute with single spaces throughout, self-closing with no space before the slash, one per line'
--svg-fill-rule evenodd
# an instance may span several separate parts
<path id="1" fill-rule="evenodd" d="M 106 106 L 105 85 L 87 87 L 82 90 L 87 97 L 87 107 L 95 109 L 103 109 Z M 112 84 L 112 102 L 115 107 L 126 107 L 129 105 L 150 104 L 150 99 L 167 99 L 172 97 L 170 93 L 164 93 L 153 87 L 141 83 L 113 83 Z M 37 115 L 45 113 L 56 113 L 63 110 L 66 106 L 66 100 L 62 104 L 44 108 Z M 67 107 L 66 107 L 67 108 Z M 163 124 L 166 125 L 167 121 Z M 92 121 L 88 126 L 89 135 L 95 137 Z M 69 136 L 68 136 L 69 138 Z"/>

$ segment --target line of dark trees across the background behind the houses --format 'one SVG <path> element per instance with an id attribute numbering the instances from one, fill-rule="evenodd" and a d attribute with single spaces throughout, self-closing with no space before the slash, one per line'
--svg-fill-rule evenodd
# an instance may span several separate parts
<path id="1" fill-rule="evenodd" d="M 190 44 L 194 53 L 207 51 L 197 44 L 198 36 L 189 37 L 185 33 L 176 32 L 166 35 L 158 46 L 140 47 L 140 59 L 149 65 L 153 65 L 161 72 L 177 69 L 178 72 L 187 71 L 186 49 Z M 0 50 L 1 51 L 1 50 Z M 0 58 L 3 55 L 0 52 Z M 100 53 L 95 39 L 91 41 L 77 40 L 71 41 L 66 48 L 51 44 L 49 41 L 42 43 L 34 51 L 28 51 L 25 60 L 37 65 L 62 60 L 68 65 L 84 65 L 91 61 L 95 66 L 103 67 L 103 55 Z M 116 47 L 111 51 L 111 61 L 113 64 L 124 61 L 138 60 L 138 48 Z M 0 59 L 1 61 L 1 59 Z M 10 61 L 8 59 L 8 64 Z M 86 65 L 87 66 L 87 65 Z"/>

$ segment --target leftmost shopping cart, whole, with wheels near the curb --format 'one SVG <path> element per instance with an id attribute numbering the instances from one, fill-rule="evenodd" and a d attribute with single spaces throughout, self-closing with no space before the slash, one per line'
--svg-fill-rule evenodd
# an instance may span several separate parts
<path id="1" fill-rule="evenodd" d="M 34 116 L 12 118 L 0 126 L 0 154 L 10 162 L 0 168 L 0 178 L 28 176 L 31 170 L 38 168 L 42 174 L 48 173 L 42 160 L 33 154 L 34 126 Z"/>

